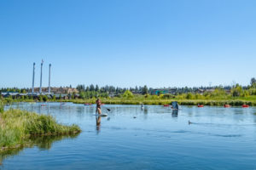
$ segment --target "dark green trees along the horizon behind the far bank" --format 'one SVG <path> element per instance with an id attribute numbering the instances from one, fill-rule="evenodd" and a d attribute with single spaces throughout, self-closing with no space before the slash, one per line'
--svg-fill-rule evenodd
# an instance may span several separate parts
<path id="1" fill-rule="evenodd" d="M 70 88 L 72 88 L 70 86 Z M 114 86 L 106 85 L 104 87 L 99 87 L 97 84 L 90 84 L 85 86 L 84 84 L 79 84 L 76 87 L 79 90 L 80 97 L 82 99 L 90 99 L 92 97 L 109 97 L 109 96 L 121 96 L 125 91 L 129 90 L 132 94 L 154 94 L 154 88 L 148 88 L 147 85 L 136 86 L 134 88 L 119 88 Z M 167 88 L 161 88 L 167 89 Z M 202 91 L 207 91 L 207 89 L 218 89 L 220 91 L 229 90 L 233 96 L 246 96 L 246 95 L 256 95 L 256 79 L 253 77 L 247 86 L 241 86 L 239 84 L 234 84 L 233 86 L 214 86 L 214 87 L 183 87 L 174 88 L 175 94 L 196 94 L 199 89 Z M 30 88 L 1 88 L 2 92 L 17 92 L 21 94 L 26 94 L 30 92 Z"/>

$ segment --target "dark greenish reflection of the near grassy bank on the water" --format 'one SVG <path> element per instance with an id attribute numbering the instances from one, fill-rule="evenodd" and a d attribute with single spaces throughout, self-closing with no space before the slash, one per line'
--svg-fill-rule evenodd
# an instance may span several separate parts
<path id="1" fill-rule="evenodd" d="M 10 150 L 3 150 L 2 152 L 0 152 L 0 167 L 4 166 L 2 164 L 4 159 L 11 156 L 19 155 L 20 151 L 24 150 L 25 148 L 32 148 L 36 146 L 39 148 L 39 150 L 49 150 L 56 141 L 60 141 L 62 139 L 75 139 L 78 136 L 79 136 L 79 133 L 69 134 L 69 135 L 59 135 L 59 136 L 31 137 L 30 139 L 26 139 L 25 141 L 26 144 L 24 144 L 25 146 L 23 147 L 10 149 Z"/>

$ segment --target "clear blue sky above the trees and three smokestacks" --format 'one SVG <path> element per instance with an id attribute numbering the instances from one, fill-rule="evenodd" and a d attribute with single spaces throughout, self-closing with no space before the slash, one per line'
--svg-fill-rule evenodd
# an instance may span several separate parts
<path id="1" fill-rule="evenodd" d="M 247 85 L 254 0 L 0 0 L 0 88 Z"/>

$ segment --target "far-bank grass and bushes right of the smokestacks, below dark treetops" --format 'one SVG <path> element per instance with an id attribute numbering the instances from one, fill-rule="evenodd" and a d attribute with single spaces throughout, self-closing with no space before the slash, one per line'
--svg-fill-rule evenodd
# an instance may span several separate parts
<path id="1" fill-rule="evenodd" d="M 147 86 L 142 88 L 142 94 L 133 94 L 130 90 L 125 90 L 113 98 L 101 96 L 97 91 L 89 91 L 87 88 L 79 89 L 80 99 L 68 99 L 75 104 L 94 104 L 96 97 L 102 99 L 104 104 L 112 105 L 170 105 L 172 101 L 177 101 L 179 105 L 256 105 L 256 79 L 252 78 L 251 86 L 242 88 L 236 84 L 227 92 L 223 87 L 216 87 L 212 91 L 204 93 L 182 93 L 182 94 L 157 94 L 148 93 Z"/>

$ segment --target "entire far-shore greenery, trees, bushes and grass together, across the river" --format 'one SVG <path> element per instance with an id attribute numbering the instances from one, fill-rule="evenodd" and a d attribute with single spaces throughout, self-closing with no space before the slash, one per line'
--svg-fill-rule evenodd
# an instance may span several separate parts
<path id="1" fill-rule="evenodd" d="M 84 85 L 78 85 L 76 88 L 79 94 L 61 94 L 38 95 L 20 97 L 2 98 L 3 103 L 7 105 L 12 102 L 73 102 L 74 104 L 95 104 L 96 99 L 102 99 L 102 103 L 110 105 L 170 105 L 172 101 L 177 101 L 179 105 L 256 105 L 256 79 L 252 78 L 247 87 L 236 84 L 232 87 L 214 87 L 214 88 L 178 88 L 173 94 L 166 92 L 166 89 L 153 89 L 145 85 L 139 88 L 114 88 L 105 86 L 99 88 L 97 85 L 90 85 L 85 88 Z M 16 91 L 26 93 L 25 89 L 7 88 L 6 91 Z M 168 94 L 169 93 L 169 94 Z"/>

